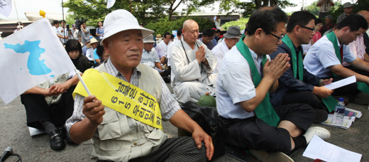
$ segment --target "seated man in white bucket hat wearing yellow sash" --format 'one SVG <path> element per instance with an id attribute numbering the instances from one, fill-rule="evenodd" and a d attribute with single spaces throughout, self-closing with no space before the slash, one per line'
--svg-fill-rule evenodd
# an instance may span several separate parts
<path id="1" fill-rule="evenodd" d="M 77 144 L 92 139 L 98 161 L 211 160 L 211 137 L 180 109 L 159 73 L 140 64 L 143 38 L 152 33 L 126 10 L 106 16 L 101 44 L 110 58 L 84 72 L 92 95 L 79 82 L 67 131 Z M 162 117 L 192 138 L 167 139 Z"/>

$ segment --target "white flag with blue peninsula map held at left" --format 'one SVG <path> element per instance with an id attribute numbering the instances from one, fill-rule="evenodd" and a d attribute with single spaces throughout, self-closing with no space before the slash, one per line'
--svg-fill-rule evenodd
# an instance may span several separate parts
<path id="1" fill-rule="evenodd" d="M 42 18 L 0 41 L 0 98 L 8 104 L 26 90 L 75 69 Z"/>

